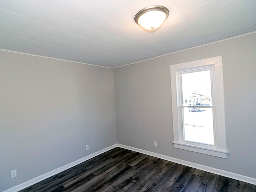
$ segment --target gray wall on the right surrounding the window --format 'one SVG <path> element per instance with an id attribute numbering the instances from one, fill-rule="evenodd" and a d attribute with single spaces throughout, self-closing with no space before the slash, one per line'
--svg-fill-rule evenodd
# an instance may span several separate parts
<path id="1" fill-rule="evenodd" d="M 223 56 L 227 159 L 171 143 L 170 65 L 214 56 Z M 256 178 L 256 33 L 116 68 L 114 83 L 119 144 Z"/>

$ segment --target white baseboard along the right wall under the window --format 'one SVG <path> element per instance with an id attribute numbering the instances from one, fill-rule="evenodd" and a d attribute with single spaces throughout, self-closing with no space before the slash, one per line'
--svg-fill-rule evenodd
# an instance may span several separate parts
<path id="1" fill-rule="evenodd" d="M 138 149 L 138 148 L 122 145 L 122 144 L 117 144 L 117 146 L 120 147 L 120 148 L 132 150 L 132 151 L 139 152 L 139 153 L 142 153 L 142 154 L 154 156 L 154 157 L 164 159 L 164 160 L 167 160 L 167 161 L 171 161 L 171 162 L 174 162 L 174 163 L 182 164 L 182 165 L 189 166 L 189 167 L 196 168 L 196 169 L 200 169 L 200 170 L 203 170 L 203 171 L 206 171 L 206 172 L 214 173 L 214 174 L 217 174 L 217 175 L 221 175 L 221 176 L 224 176 L 224 177 L 228 177 L 228 178 L 232 178 L 232 179 L 240 180 L 242 182 L 246 182 L 246 183 L 256 185 L 256 178 L 243 176 L 243 175 L 240 175 L 240 174 L 236 174 L 236 173 L 232 173 L 232 172 L 228 172 L 228 171 L 224 171 L 224 170 L 220 170 L 220 169 L 216 169 L 216 168 L 212 168 L 212 167 L 208 167 L 208 166 L 204 166 L 204 165 L 200 165 L 200 164 L 180 160 L 180 159 L 177 159 L 177 158 L 169 157 L 169 156 L 166 156 L 166 155 L 161 155 L 161 154 L 158 154 L 158 153 L 153 153 L 153 152 L 150 152 L 150 151 L 146 151 L 146 150 L 142 150 L 142 149 Z"/>

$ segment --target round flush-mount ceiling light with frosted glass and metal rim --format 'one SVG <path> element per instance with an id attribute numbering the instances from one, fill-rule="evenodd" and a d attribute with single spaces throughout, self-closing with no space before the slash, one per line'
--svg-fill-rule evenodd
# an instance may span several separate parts
<path id="1" fill-rule="evenodd" d="M 149 6 L 140 10 L 134 20 L 145 29 L 153 30 L 160 27 L 168 18 L 169 11 L 163 6 Z"/>

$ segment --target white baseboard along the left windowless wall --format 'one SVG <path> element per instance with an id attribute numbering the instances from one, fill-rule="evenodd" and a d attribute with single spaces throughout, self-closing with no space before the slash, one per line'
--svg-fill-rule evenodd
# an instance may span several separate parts
<path id="1" fill-rule="evenodd" d="M 27 188 L 27 187 L 29 187 L 31 185 L 34 185 L 34 184 L 36 184 L 36 183 L 38 183 L 38 182 L 40 182 L 42 180 L 45 180 L 45 179 L 47 179 L 47 178 L 49 178 L 51 176 L 54 176 L 54 175 L 56 175 L 56 174 L 58 174 L 58 173 L 60 173 L 62 171 L 65 171 L 65 170 L 67 170 L 69 168 L 72 168 L 72 167 L 74 167 L 74 166 L 76 166 L 76 165 L 78 165 L 78 164 L 80 164 L 82 162 L 85 162 L 85 161 L 87 161 L 87 160 L 89 160 L 91 158 L 94 158 L 97 155 L 100 155 L 100 154 L 102 154 L 104 152 L 107 152 L 107 151 L 109 151 L 109 150 L 111 150 L 113 148 L 116 148 L 116 147 L 117 147 L 117 144 L 114 144 L 114 145 L 109 146 L 107 148 L 104 148 L 104 149 L 102 149 L 100 151 L 97 151 L 97 152 L 95 152 L 93 154 L 90 154 L 90 155 L 88 155 L 86 157 L 83 157 L 83 158 L 78 159 L 78 160 L 76 160 L 74 162 L 71 162 L 71 163 L 69 163 L 67 165 L 64 165 L 62 167 L 54 169 L 54 170 L 52 170 L 52 171 L 50 171 L 48 173 L 42 174 L 42 175 L 40 175 L 40 176 L 38 176 L 36 178 L 33 178 L 33 179 L 29 180 L 29 181 L 26 181 L 26 182 L 24 182 L 22 184 L 16 185 L 13 188 L 10 188 L 10 189 L 5 190 L 3 192 L 18 192 L 18 191 L 20 191 L 20 190 L 22 190 L 24 188 Z"/>

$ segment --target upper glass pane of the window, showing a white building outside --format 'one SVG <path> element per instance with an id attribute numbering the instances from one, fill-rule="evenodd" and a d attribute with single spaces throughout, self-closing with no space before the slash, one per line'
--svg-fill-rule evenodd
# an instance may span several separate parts
<path id="1" fill-rule="evenodd" d="M 212 106 L 211 72 L 182 74 L 183 106 Z"/>

